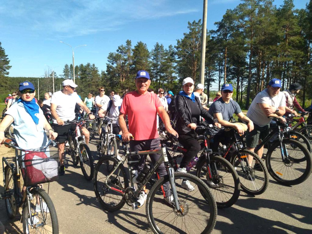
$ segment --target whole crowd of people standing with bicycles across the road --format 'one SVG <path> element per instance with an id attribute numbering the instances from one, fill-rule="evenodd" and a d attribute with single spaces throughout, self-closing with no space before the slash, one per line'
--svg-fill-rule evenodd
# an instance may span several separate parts
<path id="1" fill-rule="evenodd" d="M 18 92 L 12 95 L 19 95 L 19 99 L 12 100 L 8 104 L 5 117 L 0 123 L 0 145 L 5 139 L 5 129 L 13 123 L 15 140 L 19 147 L 25 149 L 36 149 L 45 146 L 47 134 L 50 139 L 55 139 L 59 152 L 59 175 L 65 174 L 64 149 L 68 139 L 70 129 L 76 127 L 75 124 L 68 123 L 76 119 L 75 109 L 81 108 L 85 116 L 89 119 L 103 118 L 108 116 L 115 119 L 113 122 L 113 133 L 121 134 L 122 140 L 129 142 L 131 151 L 156 150 L 160 148 L 160 138 L 158 131 L 158 118 L 164 124 L 167 134 L 177 137 L 178 142 L 183 145 L 186 152 L 178 166 L 177 172 L 187 173 L 187 165 L 201 150 L 201 144 L 197 141 L 196 129 L 202 120 L 212 124 L 215 135 L 212 144 L 212 151 L 217 152 L 219 144 L 227 144 L 231 140 L 229 134 L 222 127 L 234 128 L 237 133 L 246 132 L 247 149 L 254 151 L 255 147 L 261 143 L 268 134 L 271 119 L 276 117 L 280 121 L 286 121 L 283 115 L 293 113 L 298 115 L 298 111 L 304 111 L 296 100 L 301 85 L 291 84 L 288 90 L 281 91 L 281 81 L 272 79 L 265 90 L 256 95 L 246 115 L 241 111 L 240 106 L 232 99 L 232 84 L 223 84 L 221 90 L 217 92 L 216 98 L 208 108 L 207 95 L 204 93 L 204 86 L 197 84 L 187 77 L 183 80 L 182 90 L 178 94 L 168 91 L 165 96 L 163 89 L 158 90 L 158 95 L 151 92 L 150 76 L 147 71 L 137 72 L 135 77 L 136 90 L 131 91 L 121 98 L 115 92 L 110 96 L 105 95 L 105 88 L 99 87 L 99 95 L 93 98 L 89 93 L 84 101 L 75 92 L 77 85 L 73 80 L 64 80 L 62 90 L 53 94 L 46 93 L 45 100 L 35 100 L 36 90 L 31 82 L 24 81 L 19 84 Z M 13 98 L 14 98 L 13 96 Z M 9 103 L 8 102 L 8 103 Z M 14 104 L 15 102 L 15 104 Z M 95 107 L 95 111 L 92 111 Z M 168 110 L 174 109 L 176 118 L 175 128 L 170 123 Z M 82 112 L 82 111 L 81 111 Z M 44 114 L 51 113 L 53 123 L 50 125 Z M 236 116 L 241 122 L 230 122 L 232 116 Z M 170 115 L 173 118 L 172 115 Z M 126 123 L 126 117 L 127 122 Z M 89 143 L 89 132 L 85 127 L 81 127 L 81 135 L 85 137 L 86 144 Z M 256 154 L 262 157 L 263 147 Z M 149 154 L 152 163 L 158 161 L 161 155 Z M 135 165 L 138 174 L 142 172 L 146 157 L 140 158 Z M 261 170 L 257 164 L 254 170 Z M 164 163 L 157 169 L 160 177 L 166 175 Z M 213 185 L 210 184 L 212 187 Z M 188 180 L 183 180 L 181 187 L 193 191 L 194 187 Z M 168 205 L 173 203 L 173 196 L 170 191 L 169 182 L 163 185 L 164 202 Z M 147 189 L 139 194 L 138 206 L 142 207 L 147 198 Z"/>

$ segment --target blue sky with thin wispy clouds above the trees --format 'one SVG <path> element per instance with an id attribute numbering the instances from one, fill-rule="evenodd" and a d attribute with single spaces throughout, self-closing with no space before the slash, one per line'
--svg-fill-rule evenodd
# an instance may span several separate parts
<path id="1" fill-rule="evenodd" d="M 0 41 L 10 59 L 9 76 L 39 77 L 50 67 L 57 75 L 64 65 L 94 63 L 106 69 L 107 56 L 127 39 L 143 41 L 151 50 L 156 42 L 167 48 L 187 32 L 188 21 L 202 18 L 202 0 L 53 0 L 0 1 Z M 305 8 L 309 0 L 294 0 Z M 239 0 L 208 0 L 207 28 L 214 29 L 226 9 Z M 278 7 L 282 0 L 275 0 Z"/>

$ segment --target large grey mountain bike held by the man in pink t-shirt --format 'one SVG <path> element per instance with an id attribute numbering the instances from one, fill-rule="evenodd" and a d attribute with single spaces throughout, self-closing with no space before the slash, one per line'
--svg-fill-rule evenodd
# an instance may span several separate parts
<path id="1" fill-rule="evenodd" d="M 121 136 L 116 135 L 116 137 L 120 139 Z M 217 206 L 208 186 L 194 175 L 174 173 L 168 161 L 163 140 L 161 140 L 161 149 L 159 150 L 129 152 L 127 142 L 122 142 L 122 146 L 125 155 L 121 156 L 120 160 L 112 156 L 104 156 L 95 167 L 93 180 L 95 196 L 104 210 L 114 212 L 121 209 L 125 203 L 132 209 L 137 209 L 136 201 L 139 193 L 160 163 L 164 162 L 168 175 L 160 178 L 153 185 L 146 200 L 146 215 L 152 231 L 154 233 L 171 231 L 187 233 L 193 229 L 193 233 L 212 232 L 216 223 Z M 146 170 L 145 176 L 137 183 L 136 187 L 134 183 L 136 181 L 131 173 L 133 166 L 141 156 L 144 157 L 150 153 L 161 154 L 162 157 Z M 108 161 L 116 164 L 113 170 L 107 168 Z M 126 161 L 127 170 L 124 167 Z M 146 165 L 145 167 L 148 168 Z M 195 189 L 188 191 L 182 188 L 180 184 L 183 179 L 189 180 Z M 173 197 L 173 199 L 169 197 L 170 205 L 163 203 L 165 192 L 162 188 L 164 184 L 168 185 L 168 183 L 172 191 L 170 197 Z"/>

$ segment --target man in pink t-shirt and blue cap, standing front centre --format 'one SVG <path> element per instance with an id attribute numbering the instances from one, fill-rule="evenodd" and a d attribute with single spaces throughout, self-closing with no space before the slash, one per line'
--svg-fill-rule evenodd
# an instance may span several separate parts
<path id="1" fill-rule="evenodd" d="M 165 124 L 168 133 L 178 136 L 177 132 L 172 128 L 170 119 L 165 111 L 162 103 L 156 94 L 148 92 L 151 80 L 147 71 L 138 71 L 135 78 L 136 91 L 129 92 L 124 96 L 119 114 L 119 126 L 122 131 L 122 140 L 130 141 L 130 136 L 134 140 L 130 141 L 131 151 L 153 150 L 160 149 L 160 139 L 157 132 L 157 113 Z M 125 117 L 128 115 L 128 125 L 125 122 Z M 155 163 L 161 155 L 149 154 L 152 162 Z M 142 172 L 145 165 L 145 158 L 142 157 L 140 162 L 134 169 L 138 170 L 138 175 Z M 167 175 L 164 163 L 159 165 L 157 172 L 160 177 Z M 171 203 L 169 182 L 163 185 L 165 191 L 164 200 Z M 143 206 L 147 194 L 147 190 L 142 191 L 138 197 L 138 206 Z"/>

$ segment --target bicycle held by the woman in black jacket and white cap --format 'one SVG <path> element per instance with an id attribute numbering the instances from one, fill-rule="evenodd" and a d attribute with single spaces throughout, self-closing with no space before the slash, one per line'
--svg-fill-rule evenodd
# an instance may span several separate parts
<path id="1" fill-rule="evenodd" d="M 203 181 L 207 182 L 209 188 L 212 189 L 212 195 L 214 196 L 218 208 L 231 207 L 237 201 L 240 194 L 240 181 L 238 175 L 233 166 L 217 153 L 212 153 L 209 149 L 209 136 L 212 135 L 212 125 L 209 128 L 204 126 L 197 126 L 196 132 L 199 137 L 197 140 L 203 141 L 202 150 L 199 153 L 199 157 L 195 156 L 197 163 L 189 164 L 187 170 L 191 170 L 194 166 L 196 169 L 196 176 Z M 166 146 L 169 146 L 172 150 L 170 154 L 167 152 L 168 160 L 176 170 L 178 168 L 177 159 L 183 157 L 183 153 L 187 152 L 187 149 L 174 144 L 175 140 L 169 136 L 170 143 L 166 142 Z M 178 142 L 175 142 L 178 143 Z M 182 153 L 183 152 L 183 153 Z M 175 153 L 180 153 L 174 156 Z"/>

